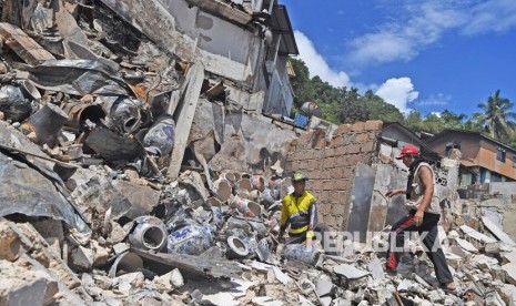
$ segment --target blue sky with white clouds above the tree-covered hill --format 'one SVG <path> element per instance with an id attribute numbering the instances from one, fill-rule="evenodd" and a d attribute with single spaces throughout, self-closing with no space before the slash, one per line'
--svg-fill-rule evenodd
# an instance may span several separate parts
<path id="1" fill-rule="evenodd" d="M 402 111 L 516 102 L 516 0 L 280 0 L 311 76 Z"/>

